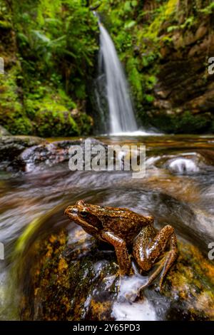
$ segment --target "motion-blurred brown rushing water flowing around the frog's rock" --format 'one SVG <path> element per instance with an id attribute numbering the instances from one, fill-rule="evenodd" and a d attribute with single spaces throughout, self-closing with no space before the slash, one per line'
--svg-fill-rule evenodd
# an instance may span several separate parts
<path id="1" fill-rule="evenodd" d="M 9 294 L 9 291 L 16 293 L 16 272 L 12 278 L 7 277 L 11 266 L 20 262 L 14 258 L 17 241 L 20 243 L 22 236 L 21 243 L 26 247 L 32 222 L 56 206 L 58 215 L 44 227 L 47 234 L 56 225 L 68 224 L 63 216 L 66 205 L 85 199 L 153 215 L 157 227 L 170 223 L 180 239 L 190 241 L 207 254 L 214 232 L 214 138 L 147 136 L 101 140 L 107 144 L 146 144 L 146 177 L 133 180 L 129 172 L 71 172 L 67 164 L 60 163 L 57 170 L 47 168 L 21 175 L 1 172 L 0 241 L 5 247 L 5 260 L 0 261 L 1 319 L 19 318 L 16 310 L 19 297 L 12 304 Z M 28 234 L 26 227 L 29 227 Z M 27 250 L 26 259 L 30 257 Z M 128 284 L 124 285 L 127 290 Z M 156 319 L 149 301 L 133 306 L 116 304 L 114 313 L 118 319 L 131 319 L 133 315 Z"/>

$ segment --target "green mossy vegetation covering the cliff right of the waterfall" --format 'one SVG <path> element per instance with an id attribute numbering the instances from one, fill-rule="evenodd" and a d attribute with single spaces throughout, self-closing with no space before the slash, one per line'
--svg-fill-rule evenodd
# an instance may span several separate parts
<path id="1" fill-rule="evenodd" d="M 190 39 L 191 34 L 194 36 L 201 23 L 208 26 L 208 30 L 212 34 L 213 24 L 210 18 L 214 11 L 213 1 L 103 0 L 100 1 L 100 4 L 99 12 L 101 12 L 108 31 L 111 32 L 121 61 L 126 67 L 139 122 L 142 122 L 143 125 L 161 128 L 167 133 L 213 131 L 212 109 L 209 110 L 212 115 L 203 113 L 203 110 L 203 115 L 193 115 L 191 110 L 187 111 L 185 107 L 181 108 L 182 113 L 177 113 L 178 106 L 170 100 L 167 101 L 172 102 L 170 108 L 165 109 L 159 105 L 156 108 L 157 83 L 163 82 L 164 84 L 165 78 L 161 73 L 161 68 L 170 61 L 168 54 L 175 53 L 177 51 L 175 49 L 178 49 L 173 61 L 176 58 L 179 61 L 185 60 L 189 52 L 185 40 Z M 180 36 L 178 40 L 180 44 L 175 45 L 174 41 L 177 36 Z M 199 41 L 195 41 L 195 44 L 199 43 Z M 203 57 L 205 61 L 207 56 L 208 53 L 199 57 Z M 196 63 L 197 59 L 192 58 L 191 61 Z M 201 63 L 201 59 L 199 61 Z M 172 67 L 171 72 L 173 73 L 173 71 Z M 196 63 L 193 76 L 196 75 L 197 71 L 198 64 Z M 201 77 L 204 77 L 204 73 L 205 66 L 202 69 Z M 176 72 L 175 76 L 177 76 Z M 176 80 L 178 81 L 175 77 Z M 193 78 L 192 85 L 197 86 L 195 81 L 196 78 Z M 201 94 L 203 94 L 203 90 L 204 86 L 201 88 Z M 198 91 L 192 95 L 200 94 Z M 199 108 L 198 111 L 200 113 L 201 109 Z"/>

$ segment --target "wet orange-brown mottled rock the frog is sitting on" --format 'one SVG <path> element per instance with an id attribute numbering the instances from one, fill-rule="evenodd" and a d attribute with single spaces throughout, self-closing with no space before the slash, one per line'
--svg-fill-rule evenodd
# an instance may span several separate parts
<path id="1" fill-rule="evenodd" d="M 81 228 L 37 243 L 27 272 L 22 320 L 213 320 L 214 266 L 191 244 L 179 243 L 163 292 L 158 282 L 136 292 L 148 277 L 119 277 L 116 257 Z M 153 271 L 153 270 L 152 270 Z M 25 294 L 26 292 L 26 294 Z"/>

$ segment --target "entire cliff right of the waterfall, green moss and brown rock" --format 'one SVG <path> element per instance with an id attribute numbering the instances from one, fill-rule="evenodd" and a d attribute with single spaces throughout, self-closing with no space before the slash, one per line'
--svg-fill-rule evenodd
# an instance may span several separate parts
<path id="1" fill-rule="evenodd" d="M 143 125 L 166 133 L 213 133 L 213 12 L 209 0 L 103 5 Z"/>

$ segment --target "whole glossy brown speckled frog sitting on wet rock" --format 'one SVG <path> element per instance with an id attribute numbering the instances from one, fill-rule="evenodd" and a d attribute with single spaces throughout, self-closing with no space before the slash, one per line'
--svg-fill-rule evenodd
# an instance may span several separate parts
<path id="1" fill-rule="evenodd" d="M 136 260 L 141 274 L 149 272 L 157 263 L 146 284 L 138 289 L 138 294 L 160 273 L 159 289 L 162 291 L 163 280 L 178 257 L 177 239 L 171 225 L 158 231 L 153 216 L 144 216 L 128 208 L 92 205 L 84 200 L 69 205 L 64 213 L 86 233 L 113 246 L 121 275 L 133 274 L 131 257 Z"/>

